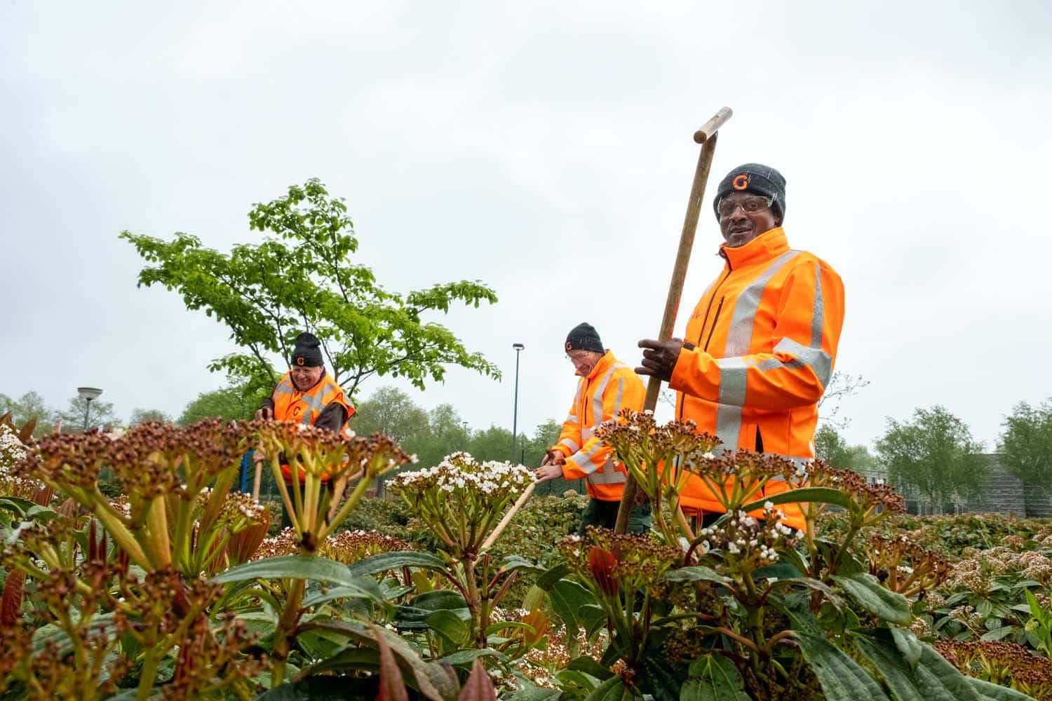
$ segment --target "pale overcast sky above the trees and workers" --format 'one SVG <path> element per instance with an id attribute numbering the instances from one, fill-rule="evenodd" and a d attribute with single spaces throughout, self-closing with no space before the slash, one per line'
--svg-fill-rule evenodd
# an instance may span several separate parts
<path id="1" fill-rule="evenodd" d="M 632 364 L 656 332 L 691 135 L 729 105 L 682 319 L 721 267 L 715 184 L 760 161 L 790 244 L 845 282 L 836 369 L 871 382 L 849 440 L 942 404 L 992 447 L 1052 395 L 1052 4 L 290 4 L 0 6 L 0 392 L 178 415 L 223 384 L 227 332 L 137 289 L 117 234 L 227 250 L 251 203 L 318 177 L 386 287 L 500 295 L 434 321 L 504 382 L 454 369 L 414 398 L 510 428 L 521 342 L 532 431 L 571 399 L 572 326 Z"/>

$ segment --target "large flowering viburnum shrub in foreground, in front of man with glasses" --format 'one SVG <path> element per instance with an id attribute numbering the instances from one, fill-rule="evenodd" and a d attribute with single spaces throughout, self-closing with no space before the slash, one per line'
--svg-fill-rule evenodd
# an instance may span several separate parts
<path id="1" fill-rule="evenodd" d="M 903 512 L 891 488 L 817 461 L 721 450 L 690 421 L 658 425 L 649 414 L 623 411 L 596 435 L 654 502 L 655 529 L 563 540 L 562 572 L 584 587 L 542 576 L 568 630 L 607 630 L 599 667 L 570 665 L 594 676 L 594 698 L 983 698 L 980 682 L 909 630 L 913 601 L 901 592 L 923 597 L 940 565 L 912 578 L 869 572 L 906 556 L 886 548 L 874 563 L 858 537 Z M 680 503 L 688 475 L 726 511 L 708 525 Z M 765 490 L 774 481 L 785 491 Z M 803 533 L 782 522 L 789 504 L 805 517 Z M 815 531 L 830 507 L 847 519 L 833 540 Z"/>

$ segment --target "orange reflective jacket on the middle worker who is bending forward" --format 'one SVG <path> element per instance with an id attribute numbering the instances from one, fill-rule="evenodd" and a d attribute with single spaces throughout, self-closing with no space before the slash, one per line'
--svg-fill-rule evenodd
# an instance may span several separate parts
<path id="1" fill-rule="evenodd" d="M 578 393 L 552 450 L 566 458 L 564 479 L 586 478 L 588 496 L 620 501 L 627 470 L 613 459 L 613 449 L 595 437 L 603 421 L 622 409 L 641 411 L 646 390 L 635 372 L 607 351 L 587 377 L 578 380 Z"/>

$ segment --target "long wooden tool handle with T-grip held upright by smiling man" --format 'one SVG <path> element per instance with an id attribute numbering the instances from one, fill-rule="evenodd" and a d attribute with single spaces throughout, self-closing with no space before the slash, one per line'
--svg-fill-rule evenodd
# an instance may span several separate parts
<path id="1" fill-rule="evenodd" d="M 730 107 L 724 107 L 694 132 L 694 141 L 702 145 L 702 149 L 697 154 L 697 166 L 694 168 L 694 182 L 690 186 L 687 215 L 683 220 L 683 231 L 680 233 L 680 249 L 675 253 L 675 265 L 672 266 L 672 280 L 669 281 L 668 297 L 665 300 L 665 314 L 662 316 L 661 330 L 658 332 L 659 341 L 668 341 L 672 337 L 675 314 L 680 309 L 680 296 L 683 294 L 683 283 L 687 277 L 687 264 L 690 263 L 690 251 L 694 247 L 694 233 L 697 231 L 697 217 L 701 213 L 702 200 L 705 198 L 705 185 L 709 180 L 712 156 L 716 150 L 717 132 L 730 119 L 731 114 Z M 661 379 L 651 375 L 647 383 L 647 396 L 643 401 L 643 410 L 653 411 L 658 406 L 660 394 Z M 653 466 L 648 467 L 653 469 Z M 635 480 L 629 474 L 625 482 L 625 493 L 621 497 L 621 507 L 618 509 L 618 522 L 614 527 L 616 533 L 624 533 L 628 529 L 628 519 L 635 502 Z"/>

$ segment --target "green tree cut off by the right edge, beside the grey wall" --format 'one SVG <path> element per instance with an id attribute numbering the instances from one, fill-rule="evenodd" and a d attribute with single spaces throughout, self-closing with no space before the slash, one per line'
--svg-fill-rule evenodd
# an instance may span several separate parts
<path id="1" fill-rule="evenodd" d="M 997 447 L 1013 475 L 1049 491 L 1052 484 L 1052 399 L 1031 407 L 1020 401 L 1005 417 Z"/>

